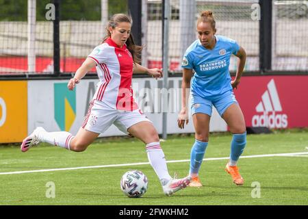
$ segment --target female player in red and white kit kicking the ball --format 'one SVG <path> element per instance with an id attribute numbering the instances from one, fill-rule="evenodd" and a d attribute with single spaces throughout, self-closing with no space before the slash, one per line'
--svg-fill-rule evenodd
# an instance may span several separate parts
<path id="1" fill-rule="evenodd" d="M 23 140 L 21 151 L 47 142 L 70 151 L 85 151 L 94 140 L 112 124 L 146 144 L 149 162 L 155 170 L 164 193 L 170 195 L 190 183 L 190 177 L 172 179 L 168 173 L 164 152 L 157 131 L 151 121 L 138 109 L 133 100 L 131 79 L 133 73 L 147 73 L 162 77 L 159 68 L 148 69 L 137 62 L 142 47 L 133 42 L 131 19 L 126 14 L 114 14 L 107 25 L 107 36 L 95 47 L 75 76 L 68 81 L 73 90 L 86 73 L 96 66 L 99 83 L 90 103 L 88 114 L 76 136 L 66 131 L 47 132 L 38 127 Z"/>

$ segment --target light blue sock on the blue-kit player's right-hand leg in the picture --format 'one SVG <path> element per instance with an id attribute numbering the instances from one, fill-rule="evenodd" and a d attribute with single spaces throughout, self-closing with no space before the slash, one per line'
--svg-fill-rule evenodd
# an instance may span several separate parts
<path id="1" fill-rule="evenodd" d="M 235 166 L 242 155 L 246 146 L 246 132 L 242 134 L 233 134 L 231 142 L 230 166 Z"/>

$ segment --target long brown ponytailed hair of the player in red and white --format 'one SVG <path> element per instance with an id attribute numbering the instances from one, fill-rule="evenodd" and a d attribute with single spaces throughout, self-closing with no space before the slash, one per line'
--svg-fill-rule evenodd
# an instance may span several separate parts
<path id="1" fill-rule="evenodd" d="M 122 23 L 122 22 L 127 22 L 127 23 L 131 24 L 131 18 L 129 16 L 127 16 L 126 14 L 114 14 L 110 18 L 110 21 L 109 21 L 109 23 L 106 27 L 107 34 L 106 34 L 105 38 L 103 38 L 103 42 L 105 42 L 105 40 L 107 40 L 107 38 L 111 37 L 109 27 L 115 28 L 116 26 L 118 26 L 118 23 Z M 131 55 L 133 56 L 133 62 L 137 62 L 137 63 L 140 64 L 140 62 L 141 62 L 141 51 L 142 51 L 143 47 L 135 44 L 135 42 L 133 41 L 133 36 L 131 34 L 129 34 L 129 38 L 126 41 L 126 46 L 127 46 L 127 49 L 129 50 L 129 52 L 131 53 Z"/>

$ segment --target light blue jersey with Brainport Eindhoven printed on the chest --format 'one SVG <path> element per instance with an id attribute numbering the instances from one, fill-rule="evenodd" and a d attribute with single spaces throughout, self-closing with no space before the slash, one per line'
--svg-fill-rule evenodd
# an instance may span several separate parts
<path id="1" fill-rule="evenodd" d="M 182 68 L 195 71 L 192 95 L 209 100 L 233 90 L 229 73 L 230 57 L 240 49 L 235 40 L 219 35 L 215 37 L 214 49 L 206 49 L 200 40 L 196 40 L 188 47 L 182 61 Z"/>

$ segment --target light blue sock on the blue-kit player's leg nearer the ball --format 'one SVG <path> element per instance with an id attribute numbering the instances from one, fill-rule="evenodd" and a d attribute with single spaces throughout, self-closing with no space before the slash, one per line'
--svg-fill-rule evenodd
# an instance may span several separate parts
<path id="1" fill-rule="evenodd" d="M 198 175 L 202 160 L 207 149 L 207 142 L 195 140 L 190 152 L 190 175 Z"/>

